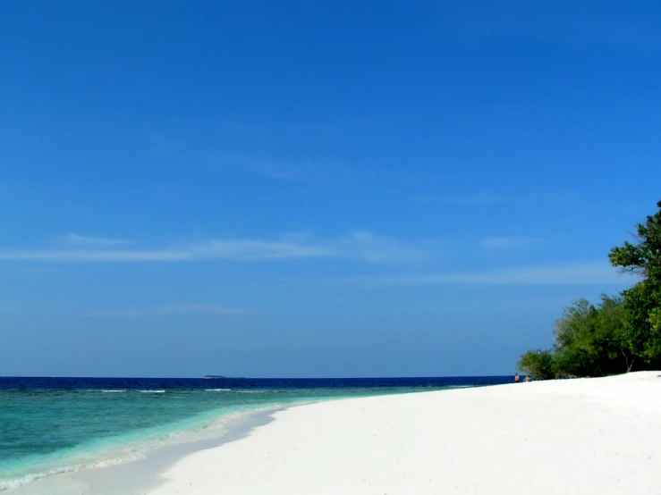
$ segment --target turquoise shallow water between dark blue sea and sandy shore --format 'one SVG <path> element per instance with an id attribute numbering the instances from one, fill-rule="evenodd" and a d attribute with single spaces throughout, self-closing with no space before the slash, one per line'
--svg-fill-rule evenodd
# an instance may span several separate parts
<path id="1" fill-rule="evenodd" d="M 140 457 L 220 417 L 304 400 L 225 391 L 0 392 L 0 490 L 99 462 Z M 254 399 L 253 399 L 254 398 Z"/>

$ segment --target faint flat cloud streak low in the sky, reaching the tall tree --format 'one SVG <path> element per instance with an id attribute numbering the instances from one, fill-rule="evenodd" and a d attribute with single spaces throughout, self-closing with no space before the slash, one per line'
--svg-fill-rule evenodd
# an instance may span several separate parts
<path id="1" fill-rule="evenodd" d="M 413 273 L 363 277 L 368 286 L 395 285 L 611 285 L 634 281 L 604 263 L 515 266 L 459 273 Z"/>

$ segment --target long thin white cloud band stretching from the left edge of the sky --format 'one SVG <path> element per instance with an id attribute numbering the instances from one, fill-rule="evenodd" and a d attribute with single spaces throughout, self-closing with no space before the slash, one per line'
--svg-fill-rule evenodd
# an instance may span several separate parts
<path id="1" fill-rule="evenodd" d="M 367 263 L 394 263 L 435 256 L 437 242 L 401 241 L 369 231 L 352 231 L 336 239 L 307 234 L 277 239 L 211 239 L 163 248 L 112 248 L 92 245 L 67 249 L 0 250 L 4 261 L 44 262 L 187 262 L 230 260 L 258 262 L 305 258 L 345 258 Z"/>

